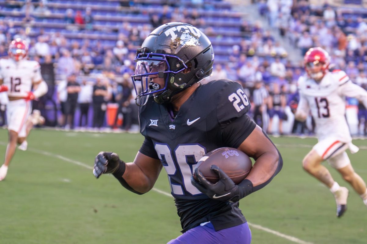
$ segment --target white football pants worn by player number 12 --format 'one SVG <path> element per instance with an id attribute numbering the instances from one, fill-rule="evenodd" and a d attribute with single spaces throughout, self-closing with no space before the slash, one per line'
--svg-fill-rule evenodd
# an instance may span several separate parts
<path id="1" fill-rule="evenodd" d="M 30 101 L 24 99 L 9 101 L 6 109 L 8 130 L 18 133 L 18 137 L 26 136 L 26 121 L 32 111 Z"/>

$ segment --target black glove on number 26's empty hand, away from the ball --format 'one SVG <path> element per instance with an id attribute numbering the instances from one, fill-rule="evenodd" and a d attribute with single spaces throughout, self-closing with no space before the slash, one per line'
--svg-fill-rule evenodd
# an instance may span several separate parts
<path id="1" fill-rule="evenodd" d="M 94 160 L 93 174 L 98 179 L 101 174 L 113 174 L 116 172 L 125 172 L 125 162 L 119 158 L 119 155 L 112 152 L 100 152 Z"/>

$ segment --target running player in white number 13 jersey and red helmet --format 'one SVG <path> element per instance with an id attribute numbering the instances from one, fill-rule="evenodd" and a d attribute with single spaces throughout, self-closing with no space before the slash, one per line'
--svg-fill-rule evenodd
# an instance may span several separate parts
<path id="1" fill-rule="evenodd" d="M 356 153 L 345 119 L 345 96 L 367 105 L 367 91 L 350 81 L 344 71 L 328 71 L 330 56 L 322 48 L 311 48 L 304 57 L 307 75 L 298 80 L 300 101 L 296 119 L 304 121 L 311 110 L 319 142 L 303 159 L 304 169 L 330 188 L 337 203 L 337 216 L 346 211 L 348 189 L 340 187 L 321 163 L 327 161 L 341 173 L 367 205 L 366 183 L 353 170 L 345 150 Z"/>

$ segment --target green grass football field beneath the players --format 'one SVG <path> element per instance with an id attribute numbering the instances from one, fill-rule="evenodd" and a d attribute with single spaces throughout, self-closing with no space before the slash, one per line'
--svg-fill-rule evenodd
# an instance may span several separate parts
<path id="1" fill-rule="evenodd" d="M 253 244 L 367 243 L 367 207 L 352 188 L 348 211 L 338 219 L 326 187 L 301 167 L 316 139 L 273 138 L 283 170 L 261 191 L 242 199 Z M 366 140 L 350 159 L 367 180 Z M 0 157 L 7 131 L 0 129 Z M 115 151 L 132 161 L 140 134 L 33 130 L 28 150 L 17 150 L 0 182 L 0 244 L 164 244 L 180 234 L 179 217 L 163 170 L 155 188 L 135 195 L 114 177 L 92 174 L 99 151 Z M 2 163 L 2 162 L 1 162 Z"/>

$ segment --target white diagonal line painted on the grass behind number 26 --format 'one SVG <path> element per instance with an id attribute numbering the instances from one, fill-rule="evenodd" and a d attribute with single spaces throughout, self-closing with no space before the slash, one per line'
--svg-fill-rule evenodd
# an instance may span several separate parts
<path id="1" fill-rule="evenodd" d="M 7 143 L 0 142 L 0 145 L 7 146 Z M 83 162 L 76 161 L 76 160 L 73 160 L 73 159 L 70 159 L 70 158 L 66 158 L 66 157 L 64 157 L 62 155 L 59 155 L 59 154 L 54 154 L 54 153 L 50 153 L 48 151 L 43 151 L 43 150 L 38 150 L 38 149 L 32 149 L 32 148 L 29 148 L 29 147 L 28 147 L 27 150 L 28 151 L 31 151 L 31 152 L 34 152 L 34 153 L 39 153 L 39 154 L 42 154 L 42 155 L 45 155 L 45 156 L 58 158 L 58 159 L 61 159 L 63 161 L 66 161 L 66 162 L 69 162 L 69 163 L 72 163 L 72 164 L 76 164 L 76 165 L 82 166 L 82 167 L 84 167 L 86 169 L 90 169 L 90 170 L 93 169 L 93 167 L 90 166 L 90 165 L 84 164 Z M 110 176 L 112 176 L 112 174 L 110 174 Z M 168 196 L 168 197 L 173 198 L 173 196 L 170 193 L 168 193 L 168 192 L 162 191 L 162 190 L 157 189 L 157 188 L 152 188 L 152 190 L 158 192 L 159 194 L 162 194 L 162 195 L 165 195 L 165 196 Z M 302 241 L 302 240 L 298 239 L 297 237 L 288 236 L 286 234 L 277 232 L 276 230 L 272 230 L 272 229 L 266 228 L 266 227 L 261 226 L 261 225 L 252 224 L 252 223 L 250 223 L 248 221 L 247 221 L 247 224 L 249 226 L 255 228 L 255 229 L 263 230 L 265 232 L 268 232 L 268 233 L 274 234 L 276 236 L 282 237 L 284 239 L 290 240 L 290 241 L 292 241 L 294 243 L 298 243 L 298 244 L 313 244 L 311 242 Z"/>

